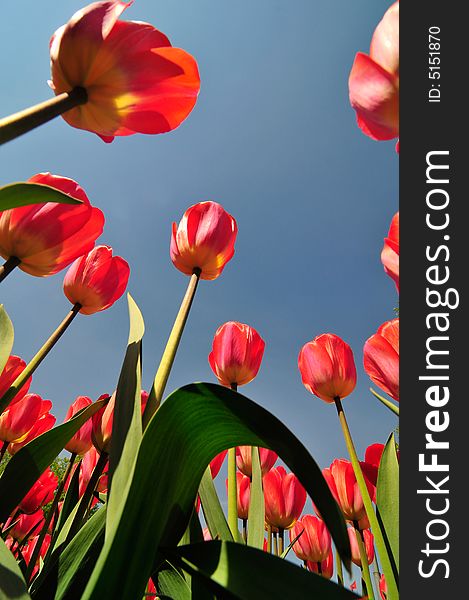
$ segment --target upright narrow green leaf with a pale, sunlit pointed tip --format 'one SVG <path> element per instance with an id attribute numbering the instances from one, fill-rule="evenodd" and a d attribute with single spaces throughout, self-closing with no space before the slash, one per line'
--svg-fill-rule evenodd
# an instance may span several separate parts
<path id="1" fill-rule="evenodd" d="M 129 303 L 130 331 L 127 351 L 116 390 L 111 451 L 109 454 L 109 493 L 106 537 L 119 524 L 132 481 L 132 474 L 142 439 L 141 351 L 145 332 L 142 314 L 132 296 Z"/>

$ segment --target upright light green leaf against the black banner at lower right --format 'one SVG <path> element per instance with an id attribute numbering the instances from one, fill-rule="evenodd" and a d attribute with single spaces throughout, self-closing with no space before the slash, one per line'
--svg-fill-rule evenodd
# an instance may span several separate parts
<path id="1" fill-rule="evenodd" d="M 392 433 L 384 447 L 378 470 L 376 489 L 378 519 L 390 550 L 396 575 L 399 573 L 399 461 L 396 440 Z"/>

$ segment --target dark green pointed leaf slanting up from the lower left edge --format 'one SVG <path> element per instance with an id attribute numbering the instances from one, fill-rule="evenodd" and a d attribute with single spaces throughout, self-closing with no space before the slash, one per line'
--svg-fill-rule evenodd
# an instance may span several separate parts
<path id="1" fill-rule="evenodd" d="M 8 518 L 31 486 L 49 467 L 67 442 L 107 400 L 94 402 L 73 419 L 46 431 L 23 446 L 8 462 L 0 477 L 0 523 Z"/>

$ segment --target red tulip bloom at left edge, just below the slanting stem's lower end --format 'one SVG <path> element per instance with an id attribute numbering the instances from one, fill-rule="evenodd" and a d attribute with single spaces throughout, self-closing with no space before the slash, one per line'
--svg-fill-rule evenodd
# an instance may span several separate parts
<path id="1" fill-rule="evenodd" d="M 19 402 L 10 404 L 0 415 L 0 440 L 21 442 L 41 416 L 42 398 L 26 394 Z"/>

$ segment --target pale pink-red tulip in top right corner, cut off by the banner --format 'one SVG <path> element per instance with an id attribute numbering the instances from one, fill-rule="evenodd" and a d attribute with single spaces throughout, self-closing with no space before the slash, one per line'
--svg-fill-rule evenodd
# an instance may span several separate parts
<path id="1" fill-rule="evenodd" d="M 363 133 L 374 140 L 399 136 L 399 2 L 377 26 L 370 54 L 357 53 L 349 94 Z"/>

